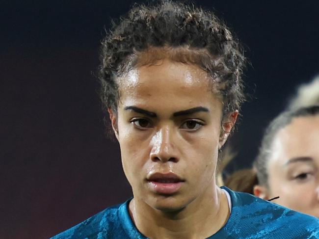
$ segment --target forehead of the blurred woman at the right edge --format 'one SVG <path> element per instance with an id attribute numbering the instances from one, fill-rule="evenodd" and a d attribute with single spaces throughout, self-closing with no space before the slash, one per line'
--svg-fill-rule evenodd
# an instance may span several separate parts
<path id="1" fill-rule="evenodd" d="M 319 159 L 319 115 L 293 118 L 275 136 L 272 150 L 273 158 L 282 161 L 303 156 Z"/>

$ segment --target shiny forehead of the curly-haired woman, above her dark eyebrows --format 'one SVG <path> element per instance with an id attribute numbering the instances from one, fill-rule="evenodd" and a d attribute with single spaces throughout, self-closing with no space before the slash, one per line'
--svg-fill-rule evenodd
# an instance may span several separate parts
<path id="1" fill-rule="evenodd" d="M 220 105 L 207 72 L 193 64 L 161 59 L 118 80 L 120 103 L 152 106 Z M 220 106 L 221 107 L 221 106 Z"/>

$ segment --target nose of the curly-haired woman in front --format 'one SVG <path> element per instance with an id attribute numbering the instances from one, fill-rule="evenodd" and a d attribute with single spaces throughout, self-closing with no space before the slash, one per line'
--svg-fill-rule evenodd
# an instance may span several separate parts
<path id="1" fill-rule="evenodd" d="M 174 145 L 174 130 L 169 127 L 161 128 L 152 137 L 150 144 L 152 147 L 150 158 L 152 161 L 178 162 L 176 145 Z"/>

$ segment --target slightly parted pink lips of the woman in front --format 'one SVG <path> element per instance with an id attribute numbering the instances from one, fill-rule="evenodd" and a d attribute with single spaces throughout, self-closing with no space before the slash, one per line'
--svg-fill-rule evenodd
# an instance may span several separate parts
<path id="1" fill-rule="evenodd" d="M 154 173 L 148 179 L 148 186 L 157 194 L 174 194 L 183 186 L 185 180 L 174 173 Z"/>

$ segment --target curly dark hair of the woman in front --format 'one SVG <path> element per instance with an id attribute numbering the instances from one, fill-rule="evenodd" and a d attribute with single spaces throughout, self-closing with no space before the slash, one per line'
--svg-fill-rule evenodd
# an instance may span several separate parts
<path id="1" fill-rule="evenodd" d="M 153 6 L 136 4 L 113 25 L 102 41 L 99 73 L 100 95 L 106 108 L 116 111 L 119 100 L 116 79 L 137 66 L 139 54 L 151 48 L 166 48 L 175 52 L 174 60 L 196 64 L 208 72 L 222 95 L 224 115 L 240 108 L 244 100 L 243 50 L 212 12 L 161 0 Z M 179 50 L 186 54 L 179 54 Z"/>

